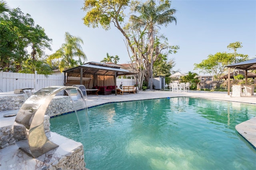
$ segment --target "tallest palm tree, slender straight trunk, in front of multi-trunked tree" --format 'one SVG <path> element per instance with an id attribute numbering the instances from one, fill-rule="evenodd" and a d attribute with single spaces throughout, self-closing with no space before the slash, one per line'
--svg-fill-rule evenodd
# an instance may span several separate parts
<path id="1" fill-rule="evenodd" d="M 150 0 L 144 4 L 139 4 L 134 8 L 134 12 L 141 14 L 140 16 L 132 15 L 131 21 L 135 28 L 142 28 L 148 31 L 148 50 L 150 53 L 150 89 L 153 89 L 153 53 L 154 53 L 154 36 L 158 25 L 167 26 L 169 23 L 175 22 L 176 18 L 172 16 L 176 10 L 170 8 L 169 0 L 160 1 L 159 6 L 156 6 L 154 0 Z M 159 27 L 159 26 L 158 26 Z"/>

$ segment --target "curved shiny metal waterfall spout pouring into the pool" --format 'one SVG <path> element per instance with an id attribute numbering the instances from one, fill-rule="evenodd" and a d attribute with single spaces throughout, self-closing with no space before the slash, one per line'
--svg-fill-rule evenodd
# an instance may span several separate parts
<path id="1" fill-rule="evenodd" d="M 77 110 L 84 110 L 84 118 L 81 119 L 83 123 L 87 123 L 86 127 L 89 127 L 86 103 L 79 88 L 73 86 L 49 86 L 38 90 L 21 106 L 14 122 L 14 139 L 17 146 L 33 158 L 58 147 L 46 137 L 44 114 L 52 98 L 61 90 L 65 90 L 68 93 L 76 114 Z M 78 114 L 77 117 L 79 118 Z"/>

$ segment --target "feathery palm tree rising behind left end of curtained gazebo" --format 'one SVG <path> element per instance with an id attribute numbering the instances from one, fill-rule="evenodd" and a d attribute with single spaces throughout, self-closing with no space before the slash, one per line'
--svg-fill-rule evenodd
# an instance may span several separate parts
<path id="1" fill-rule="evenodd" d="M 65 68 L 68 69 L 78 66 L 82 59 L 87 60 L 80 44 L 84 44 L 82 38 L 72 36 L 68 32 L 65 32 L 65 43 L 54 54 L 49 56 L 48 64 L 49 61 L 60 58 L 59 69 L 61 72 Z M 78 57 L 78 60 L 75 60 L 75 57 Z"/>

